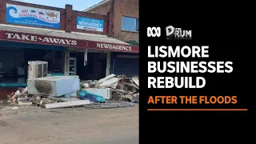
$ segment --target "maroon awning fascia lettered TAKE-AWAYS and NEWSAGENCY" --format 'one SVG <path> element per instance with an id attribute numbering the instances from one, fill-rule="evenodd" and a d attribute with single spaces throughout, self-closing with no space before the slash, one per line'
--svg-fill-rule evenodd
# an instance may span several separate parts
<path id="1" fill-rule="evenodd" d="M 10 31 L 0 31 L 0 40 L 12 42 L 38 43 L 44 45 L 77 47 L 81 49 L 110 50 L 128 53 L 138 53 L 138 46 L 118 43 L 94 42 L 72 38 L 58 38 L 47 35 L 25 34 Z"/>

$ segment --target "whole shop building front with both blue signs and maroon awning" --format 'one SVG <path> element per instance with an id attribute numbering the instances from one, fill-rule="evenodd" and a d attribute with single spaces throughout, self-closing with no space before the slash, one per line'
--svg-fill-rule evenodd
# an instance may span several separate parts
<path id="1" fill-rule="evenodd" d="M 0 3 L 6 10 L 0 14 L 0 87 L 26 86 L 28 61 L 48 62 L 50 75 L 96 80 L 118 70 L 112 66 L 115 52 L 138 54 L 138 46 L 108 36 L 109 15 L 75 11 L 71 5 Z"/>

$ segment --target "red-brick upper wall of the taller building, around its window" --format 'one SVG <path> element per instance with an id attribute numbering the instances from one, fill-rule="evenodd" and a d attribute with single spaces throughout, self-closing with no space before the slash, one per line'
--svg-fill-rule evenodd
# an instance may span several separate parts
<path id="1" fill-rule="evenodd" d="M 111 9 L 112 6 L 113 9 Z M 111 22 L 109 25 L 110 27 L 113 27 L 113 32 L 109 31 L 109 36 L 113 36 L 114 38 L 124 42 L 133 40 L 138 42 L 138 32 L 122 31 L 122 16 L 138 18 L 138 0 L 110 0 L 109 2 L 88 10 L 87 12 L 94 14 L 106 14 L 111 11 L 114 13 L 113 26 L 111 25 Z"/>

